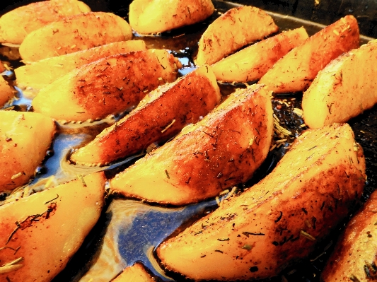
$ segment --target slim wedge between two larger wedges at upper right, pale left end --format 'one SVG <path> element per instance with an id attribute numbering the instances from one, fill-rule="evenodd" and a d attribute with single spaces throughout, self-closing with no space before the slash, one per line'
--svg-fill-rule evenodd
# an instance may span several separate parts
<path id="1" fill-rule="evenodd" d="M 218 81 L 248 82 L 261 78 L 276 62 L 308 38 L 305 28 L 289 30 L 246 47 L 211 65 Z"/>

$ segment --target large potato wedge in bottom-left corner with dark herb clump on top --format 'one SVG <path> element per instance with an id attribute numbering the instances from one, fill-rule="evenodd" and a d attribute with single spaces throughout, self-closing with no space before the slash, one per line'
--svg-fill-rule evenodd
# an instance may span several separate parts
<path id="1" fill-rule="evenodd" d="M 51 281 L 98 221 L 104 187 L 98 172 L 0 206 L 0 280 Z"/>

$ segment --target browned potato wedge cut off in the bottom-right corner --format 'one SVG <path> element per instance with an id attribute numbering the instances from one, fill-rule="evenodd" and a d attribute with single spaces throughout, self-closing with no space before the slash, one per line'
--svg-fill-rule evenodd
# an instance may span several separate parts
<path id="1" fill-rule="evenodd" d="M 377 192 L 347 224 L 322 274 L 323 282 L 375 281 Z M 373 269 L 374 268 L 374 269 Z"/>

